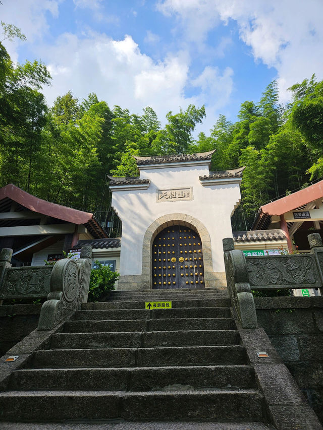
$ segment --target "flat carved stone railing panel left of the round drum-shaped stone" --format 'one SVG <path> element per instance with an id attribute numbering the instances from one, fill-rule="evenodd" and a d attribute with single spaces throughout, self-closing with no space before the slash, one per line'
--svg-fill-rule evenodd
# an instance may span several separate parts
<path id="1" fill-rule="evenodd" d="M 46 297 L 53 266 L 9 267 L 3 274 L 0 299 Z"/>

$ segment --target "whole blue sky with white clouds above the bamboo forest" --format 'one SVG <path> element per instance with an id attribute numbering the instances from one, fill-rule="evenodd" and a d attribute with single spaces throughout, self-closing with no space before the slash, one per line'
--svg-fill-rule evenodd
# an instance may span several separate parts
<path id="1" fill-rule="evenodd" d="M 204 104 L 197 132 L 208 134 L 274 79 L 282 102 L 294 83 L 323 79 L 322 0 L 3 0 L 0 17 L 27 36 L 4 42 L 12 58 L 48 66 L 49 105 L 95 92 L 131 113 L 151 106 L 164 124 Z"/>

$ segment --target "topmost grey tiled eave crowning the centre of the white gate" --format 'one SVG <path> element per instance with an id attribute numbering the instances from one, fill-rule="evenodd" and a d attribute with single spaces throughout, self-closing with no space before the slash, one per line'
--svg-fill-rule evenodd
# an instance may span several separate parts
<path id="1" fill-rule="evenodd" d="M 133 157 L 136 160 L 139 170 L 187 165 L 208 165 L 211 162 L 211 157 L 214 151 L 215 150 L 209 152 L 200 152 L 197 154 L 174 154 L 168 156 L 153 155 L 151 157 Z"/>

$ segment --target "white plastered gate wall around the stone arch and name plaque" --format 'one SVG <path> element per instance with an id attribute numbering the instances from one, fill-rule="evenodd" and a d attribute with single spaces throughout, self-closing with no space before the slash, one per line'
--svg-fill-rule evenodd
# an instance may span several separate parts
<path id="1" fill-rule="evenodd" d="M 207 165 L 151 168 L 141 166 L 140 179 L 148 178 L 144 190 L 113 190 L 112 204 L 122 220 L 120 273 L 142 273 L 143 238 L 148 227 L 158 218 L 172 213 L 190 215 L 199 220 L 210 236 L 213 271 L 223 273 L 222 239 L 232 237 L 231 215 L 240 202 L 239 181 L 203 186 L 199 176 L 208 175 Z M 193 200 L 157 202 L 158 190 L 193 189 Z M 119 191 L 120 190 L 120 191 Z"/>

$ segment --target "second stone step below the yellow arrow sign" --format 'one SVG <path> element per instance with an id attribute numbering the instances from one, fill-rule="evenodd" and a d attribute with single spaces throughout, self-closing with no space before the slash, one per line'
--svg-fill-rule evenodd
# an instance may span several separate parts
<path id="1" fill-rule="evenodd" d="M 235 329 L 235 322 L 231 318 L 160 318 L 152 320 L 67 321 L 64 325 L 65 333 Z"/>

